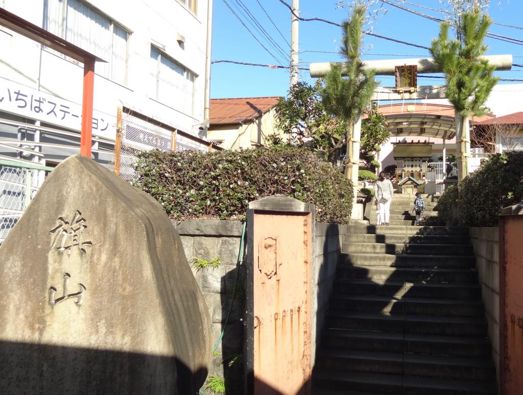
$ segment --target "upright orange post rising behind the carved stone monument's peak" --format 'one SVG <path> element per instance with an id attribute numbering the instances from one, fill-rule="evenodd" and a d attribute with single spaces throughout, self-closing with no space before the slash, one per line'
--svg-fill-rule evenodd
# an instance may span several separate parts
<path id="1" fill-rule="evenodd" d="M 84 61 L 84 92 L 82 98 L 82 132 L 80 135 L 80 154 L 91 157 L 93 146 L 93 99 L 95 88 L 95 61 Z"/>

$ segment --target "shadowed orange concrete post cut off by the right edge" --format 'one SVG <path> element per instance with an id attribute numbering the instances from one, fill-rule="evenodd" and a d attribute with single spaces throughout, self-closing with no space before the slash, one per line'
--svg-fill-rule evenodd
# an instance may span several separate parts
<path id="1" fill-rule="evenodd" d="M 499 216 L 499 393 L 523 388 L 523 202 Z"/>

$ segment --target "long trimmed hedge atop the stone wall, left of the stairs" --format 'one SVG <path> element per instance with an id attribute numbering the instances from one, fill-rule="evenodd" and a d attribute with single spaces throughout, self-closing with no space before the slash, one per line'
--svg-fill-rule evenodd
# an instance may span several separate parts
<path id="1" fill-rule="evenodd" d="M 133 184 L 172 218 L 242 219 L 251 201 L 283 194 L 316 205 L 316 220 L 347 223 L 353 185 L 303 148 L 138 154 Z"/>

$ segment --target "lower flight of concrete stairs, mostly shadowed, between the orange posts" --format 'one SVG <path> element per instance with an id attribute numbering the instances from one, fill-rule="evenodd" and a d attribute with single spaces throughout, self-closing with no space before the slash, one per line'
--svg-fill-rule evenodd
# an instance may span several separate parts
<path id="1" fill-rule="evenodd" d="M 495 394 L 468 229 L 349 228 L 314 395 Z"/>

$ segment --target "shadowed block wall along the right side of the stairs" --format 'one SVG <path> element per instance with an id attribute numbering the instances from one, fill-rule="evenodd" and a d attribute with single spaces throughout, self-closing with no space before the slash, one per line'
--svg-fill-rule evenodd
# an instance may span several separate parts
<path id="1" fill-rule="evenodd" d="M 499 379 L 499 228 L 470 228 L 470 237 L 485 305 L 488 337 L 492 343 L 492 358 Z"/>

